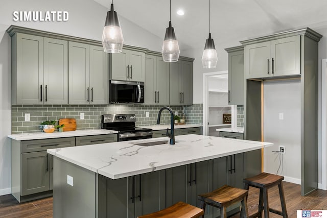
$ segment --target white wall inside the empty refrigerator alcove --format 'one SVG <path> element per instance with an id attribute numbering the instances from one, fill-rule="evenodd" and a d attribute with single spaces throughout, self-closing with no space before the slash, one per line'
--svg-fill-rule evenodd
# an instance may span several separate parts
<path id="1" fill-rule="evenodd" d="M 283 119 L 279 119 L 283 113 Z M 301 88 L 300 80 L 264 82 L 264 141 L 274 145 L 264 150 L 264 172 L 283 175 L 285 181 L 301 184 Z M 279 157 L 279 146 L 285 154 Z"/>

